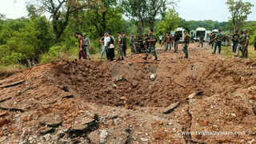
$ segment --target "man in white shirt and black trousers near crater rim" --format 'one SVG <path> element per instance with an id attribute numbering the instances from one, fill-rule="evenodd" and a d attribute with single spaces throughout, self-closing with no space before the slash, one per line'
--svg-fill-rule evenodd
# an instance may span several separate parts
<path id="1" fill-rule="evenodd" d="M 106 56 L 107 59 L 110 61 L 114 60 L 114 37 L 110 32 L 107 32 L 107 37 L 106 37 Z"/>

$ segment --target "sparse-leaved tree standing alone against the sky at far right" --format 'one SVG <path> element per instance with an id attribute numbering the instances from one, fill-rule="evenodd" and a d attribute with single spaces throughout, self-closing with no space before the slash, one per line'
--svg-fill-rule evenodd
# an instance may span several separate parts
<path id="1" fill-rule="evenodd" d="M 235 30 L 240 30 L 245 25 L 248 14 L 251 13 L 250 9 L 254 5 L 250 2 L 242 2 L 242 0 L 234 1 L 227 0 L 226 5 L 229 6 L 232 26 Z"/>

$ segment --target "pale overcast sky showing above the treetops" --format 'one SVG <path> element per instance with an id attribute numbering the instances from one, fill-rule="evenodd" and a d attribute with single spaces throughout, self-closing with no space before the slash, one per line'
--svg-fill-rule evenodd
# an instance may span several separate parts
<path id="1" fill-rule="evenodd" d="M 0 0 L 0 13 L 6 18 L 20 18 L 27 15 L 25 0 Z M 181 18 L 190 20 L 214 20 L 227 22 L 230 12 L 225 4 L 226 0 L 180 0 L 176 10 Z M 256 0 L 243 0 L 251 2 L 254 7 L 248 16 L 248 21 L 256 21 Z"/>

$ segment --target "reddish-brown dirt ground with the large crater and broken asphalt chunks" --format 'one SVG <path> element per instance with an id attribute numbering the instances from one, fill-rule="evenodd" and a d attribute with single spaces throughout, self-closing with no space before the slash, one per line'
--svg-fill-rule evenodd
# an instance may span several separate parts
<path id="1" fill-rule="evenodd" d="M 256 62 L 194 44 L 182 58 L 181 49 L 158 50 L 158 61 L 54 62 L 2 79 L 25 82 L 0 89 L 0 142 L 99 143 L 106 129 L 106 143 L 255 143 Z M 202 130 L 246 134 L 182 134 Z"/>

